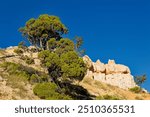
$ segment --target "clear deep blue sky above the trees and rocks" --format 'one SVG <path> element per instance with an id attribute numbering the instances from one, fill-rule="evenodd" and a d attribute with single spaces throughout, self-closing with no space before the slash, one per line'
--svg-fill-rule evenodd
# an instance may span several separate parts
<path id="1" fill-rule="evenodd" d="M 82 36 L 93 61 L 115 59 L 134 76 L 147 74 L 150 91 L 149 0 L 1 0 L 0 47 L 17 45 L 18 28 L 45 13 L 61 18 L 69 38 Z"/>

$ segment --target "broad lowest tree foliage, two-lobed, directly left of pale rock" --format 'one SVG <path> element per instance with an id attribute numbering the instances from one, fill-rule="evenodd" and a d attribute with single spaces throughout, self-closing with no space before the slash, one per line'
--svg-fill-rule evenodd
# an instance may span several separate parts
<path id="1" fill-rule="evenodd" d="M 56 53 L 45 50 L 39 53 L 39 58 L 48 68 L 52 77 L 62 76 L 63 80 L 82 80 L 85 75 L 85 64 L 75 51 L 62 53 L 61 56 L 58 56 Z"/>

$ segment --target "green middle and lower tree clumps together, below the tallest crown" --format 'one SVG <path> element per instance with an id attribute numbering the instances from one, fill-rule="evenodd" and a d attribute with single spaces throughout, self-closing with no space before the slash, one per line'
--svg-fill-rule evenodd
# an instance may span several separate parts
<path id="1" fill-rule="evenodd" d="M 41 51 L 39 58 L 42 64 L 48 68 L 53 81 L 57 82 L 58 78 L 61 81 L 82 80 L 86 72 L 86 66 L 83 59 L 75 51 L 74 43 L 63 38 L 60 41 L 52 39 L 49 42 L 49 49 L 52 51 Z M 55 49 L 54 46 L 56 46 Z"/>

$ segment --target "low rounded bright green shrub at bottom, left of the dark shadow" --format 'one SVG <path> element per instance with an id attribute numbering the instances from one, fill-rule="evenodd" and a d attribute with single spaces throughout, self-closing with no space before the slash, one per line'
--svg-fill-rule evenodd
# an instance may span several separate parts
<path id="1" fill-rule="evenodd" d="M 48 99 L 48 100 L 71 99 L 67 95 L 59 94 L 57 92 L 57 85 L 54 83 L 39 83 L 34 87 L 33 92 L 41 99 Z"/>

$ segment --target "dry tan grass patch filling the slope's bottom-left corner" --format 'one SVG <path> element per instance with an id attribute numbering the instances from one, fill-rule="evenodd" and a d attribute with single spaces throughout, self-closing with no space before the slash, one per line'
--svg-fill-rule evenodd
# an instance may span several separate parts
<path id="1" fill-rule="evenodd" d="M 39 99 L 33 94 L 31 85 L 17 75 L 2 74 L 4 81 L 0 81 L 0 99 Z"/>

